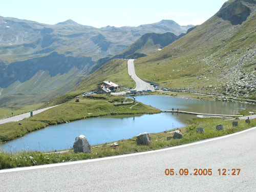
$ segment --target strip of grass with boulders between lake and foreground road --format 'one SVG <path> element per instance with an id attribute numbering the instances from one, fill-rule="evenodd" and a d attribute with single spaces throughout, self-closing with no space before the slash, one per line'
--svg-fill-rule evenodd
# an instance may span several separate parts
<path id="1" fill-rule="evenodd" d="M 216 130 L 217 124 L 223 124 L 224 129 L 222 131 Z M 256 126 L 256 119 L 251 120 L 251 123 L 245 123 L 244 120 L 239 120 L 239 126 L 233 127 L 232 121 L 224 121 L 219 118 L 205 118 L 191 120 L 189 125 L 183 127 L 181 130 L 183 134 L 182 139 L 170 139 L 167 140 L 167 136 L 173 136 L 173 130 L 151 134 L 152 144 L 146 146 L 138 146 L 136 144 L 136 137 L 127 140 L 116 141 L 119 145 L 111 147 L 110 145 L 103 144 L 99 147 L 92 147 L 91 154 L 85 153 L 73 153 L 72 150 L 66 153 L 42 153 L 42 152 L 19 152 L 13 154 L 7 154 L 0 152 L 0 169 L 34 166 L 41 164 L 69 162 L 84 159 L 101 158 L 107 156 L 115 156 L 150 150 L 158 150 L 164 147 L 177 146 L 185 143 L 191 143 L 203 139 L 223 136 L 242 130 L 246 130 L 249 127 Z M 205 133 L 196 133 L 197 127 L 204 127 Z"/>

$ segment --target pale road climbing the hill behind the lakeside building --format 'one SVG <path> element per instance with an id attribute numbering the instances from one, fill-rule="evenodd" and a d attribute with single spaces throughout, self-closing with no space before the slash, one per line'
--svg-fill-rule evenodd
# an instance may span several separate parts
<path id="1" fill-rule="evenodd" d="M 141 80 L 135 73 L 134 69 L 134 59 L 129 59 L 127 61 L 128 66 L 128 74 L 133 78 L 133 80 L 136 82 L 136 88 L 137 91 L 143 91 L 143 90 L 152 90 L 154 91 L 154 86 L 151 86 L 150 83 L 147 83 L 143 80 Z"/>

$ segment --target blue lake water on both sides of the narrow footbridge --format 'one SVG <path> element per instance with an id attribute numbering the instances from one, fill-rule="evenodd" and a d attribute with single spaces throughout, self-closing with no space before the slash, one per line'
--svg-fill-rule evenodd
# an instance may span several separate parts
<path id="1" fill-rule="evenodd" d="M 132 97 L 131 97 L 132 98 Z M 228 114 L 236 115 L 243 109 L 255 109 L 255 105 L 181 99 L 160 95 L 137 96 L 137 101 L 152 105 L 161 110 Z M 6 152 L 54 151 L 71 148 L 75 137 L 84 135 L 91 145 L 129 139 L 140 133 L 158 133 L 165 130 L 185 126 L 187 119 L 196 118 L 194 115 L 161 113 L 154 115 L 115 115 L 90 118 L 65 124 L 48 126 L 45 129 L 32 132 L 22 138 L 0 145 Z"/>

